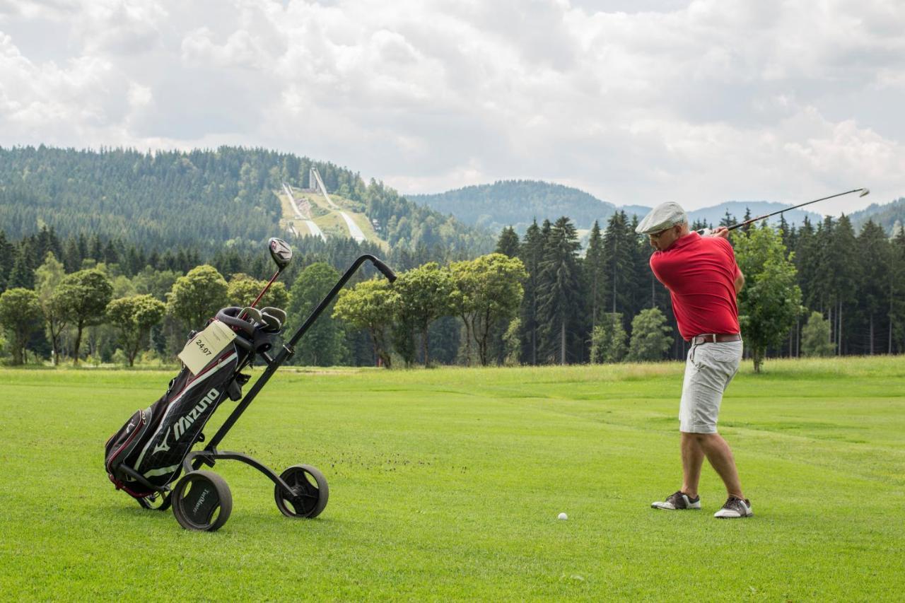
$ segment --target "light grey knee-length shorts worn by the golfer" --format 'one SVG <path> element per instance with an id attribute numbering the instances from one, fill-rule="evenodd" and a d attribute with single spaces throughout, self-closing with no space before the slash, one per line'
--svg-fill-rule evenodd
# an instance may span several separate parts
<path id="1" fill-rule="evenodd" d="M 719 403 L 729 381 L 738 372 L 741 350 L 741 341 L 691 346 L 681 388 L 679 431 L 686 434 L 717 433 Z"/>

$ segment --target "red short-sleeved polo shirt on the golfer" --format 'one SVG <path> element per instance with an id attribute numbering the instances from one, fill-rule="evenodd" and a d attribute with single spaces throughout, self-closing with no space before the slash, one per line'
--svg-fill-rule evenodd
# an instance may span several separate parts
<path id="1" fill-rule="evenodd" d="M 666 251 L 654 252 L 651 270 L 670 290 L 672 312 L 686 341 L 704 333 L 739 332 L 735 280 L 741 271 L 729 241 L 692 232 Z"/>

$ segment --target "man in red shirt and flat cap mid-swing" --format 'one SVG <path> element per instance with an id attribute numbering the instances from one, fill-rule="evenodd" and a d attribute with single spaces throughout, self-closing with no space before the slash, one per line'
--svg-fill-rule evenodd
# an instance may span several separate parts
<path id="1" fill-rule="evenodd" d="M 741 491 L 738 470 L 726 440 L 717 433 L 723 392 L 741 361 L 736 295 L 745 277 L 729 244 L 729 229 L 711 236 L 690 232 L 688 217 L 676 203 L 653 208 L 636 232 L 648 235 L 655 251 L 651 270 L 670 291 L 681 336 L 691 341 L 679 405 L 681 489 L 654 509 L 700 509 L 698 483 L 704 457 L 716 470 L 729 498 L 715 517 L 750 517 L 751 503 Z"/>

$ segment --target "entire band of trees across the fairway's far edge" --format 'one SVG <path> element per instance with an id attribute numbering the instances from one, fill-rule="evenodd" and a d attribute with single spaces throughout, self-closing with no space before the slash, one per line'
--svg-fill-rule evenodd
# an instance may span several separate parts
<path id="1" fill-rule="evenodd" d="M 723 222 L 736 219 L 726 215 Z M 390 366 L 681 359 L 687 344 L 668 292 L 648 267 L 653 249 L 634 234 L 636 224 L 624 212 L 605 229 L 595 223 L 585 250 L 567 217 L 534 222 L 521 237 L 506 228 L 496 253 L 477 258 L 443 247 L 403 247 L 388 258 L 400 273 L 395 285 L 371 280 L 373 272 L 357 276 L 310 331 L 297 360 Z M 732 242 L 747 278 L 739 295 L 746 353 L 757 368 L 776 356 L 905 351 L 902 229 L 889 238 L 868 222 L 856 235 L 843 215 L 800 228 L 782 222 L 739 229 Z M 351 239 L 303 239 L 271 305 L 286 307 L 289 326 L 297 326 L 365 252 L 380 255 Z M 94 236 L 61 241 L 48 228 L 14 244 L 0 233 L 0 258 L 0 321 L 15 362 L 28 358 L 26 350 L 33 360 L 131 361 L 145 352 L 151 360 L 172 359 L 188 330 L 222 305 L 247 304 L 273 271 L 260 247 L 221 249 L 203 263 L 196 250 L 146 254 Z M 35 258 L 43 262 L 33 265 Z M 88 284 L 75 282 L 89 275 Z M 179 283 L 195 292 L 194 306 L 180 305 L 186 295 Z M 95 290 L 101 299 L 89 318 L 66 306 Z M 147 328 L 136 334 L 138 323 L 129 316 L 139 314 Z M 57 319 L 62 326 L 52 323 Z"/>

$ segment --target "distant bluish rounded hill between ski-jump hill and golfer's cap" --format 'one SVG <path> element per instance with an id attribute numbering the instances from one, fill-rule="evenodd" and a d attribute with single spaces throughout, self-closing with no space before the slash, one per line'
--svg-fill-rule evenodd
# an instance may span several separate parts
<path id="1" fill-rule="evenodd" d="M 455 215 L 462 222 L 499 231 L 514 226 L 524 232 L 531 221 L 545 218 L 551 222 L 561 215 L 572 219 L 577 228 L 590 228 L 613 215 L 616 207 L 577 188 L 537 180 L 503 180 L 492 185 L 463 187 L 437 195 L 407 195 L 415 203 L 443 214 Z"/>

